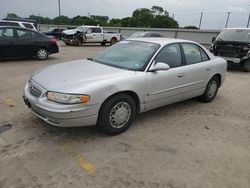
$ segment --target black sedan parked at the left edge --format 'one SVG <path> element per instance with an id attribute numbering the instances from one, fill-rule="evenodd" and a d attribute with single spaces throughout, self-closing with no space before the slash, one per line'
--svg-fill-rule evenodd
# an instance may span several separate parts
<path id="1" fill-rule="evenodd" d="M 36 57 L 44 60 L 58 52 L 55 38 L 30 29 L 0 26 L 0 58 Z"/>

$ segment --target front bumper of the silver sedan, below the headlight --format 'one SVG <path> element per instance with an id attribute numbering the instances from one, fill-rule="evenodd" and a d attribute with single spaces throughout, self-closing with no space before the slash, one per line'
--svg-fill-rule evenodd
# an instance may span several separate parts
<path id="1" fill-rule="evenodd" d="M 81 127 L 95 125 L 98 118 L 99 105 L 65 105 L 47 100 L 45 89 L 40 97 L 29 92 L 28 84 L 24 88 L 24 102 L 31 112 L 45 122 L 58 127 Z"/>

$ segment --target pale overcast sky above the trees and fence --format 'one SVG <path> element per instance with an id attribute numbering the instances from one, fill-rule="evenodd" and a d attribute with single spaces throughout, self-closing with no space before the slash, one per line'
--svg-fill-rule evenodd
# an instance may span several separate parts
<path id="1" fill-rule="evenodd" d="M 137 8 L 161 6 L 180 26 L 198 26 L 201 12 L 201 29 L 222 29 L 225 27 L 227 12 L 230 12 L 228 27 L 246 27 L 250 13 L 250 0 L 60 0 L 61 14 L 103 15 L 109 18 L 132 16 Z M 7 13 L 20 17 L 40 15 L 54 18 L 58 16 L 58 0 L 0 0 L 0 19 Z"/>

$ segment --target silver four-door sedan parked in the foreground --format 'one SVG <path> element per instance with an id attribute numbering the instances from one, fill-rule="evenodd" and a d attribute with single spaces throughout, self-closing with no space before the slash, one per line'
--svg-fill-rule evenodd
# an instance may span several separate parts
<path id="1" fill-rule="evenodd" d="M 192 41 L 130 39 L 94 58 L 38 70 L 24 101 L 54 126 L 97 125 L 119 134 L 138 113 L 194 97 L 212 101 L 226 69 L 224 59 Z"/>

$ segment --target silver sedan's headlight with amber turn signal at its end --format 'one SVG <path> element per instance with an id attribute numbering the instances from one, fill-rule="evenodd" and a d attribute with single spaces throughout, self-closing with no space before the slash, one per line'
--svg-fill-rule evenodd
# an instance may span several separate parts
<path id="1" fill-rule="evenodd" d="M 88 95 L 66 94 L 51 91 L 47 93 L 47 97 L 51 101 L 63 104 L 87 103 L 90 100 L 90 96 Z"/>

